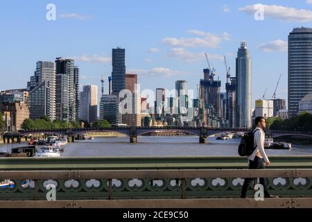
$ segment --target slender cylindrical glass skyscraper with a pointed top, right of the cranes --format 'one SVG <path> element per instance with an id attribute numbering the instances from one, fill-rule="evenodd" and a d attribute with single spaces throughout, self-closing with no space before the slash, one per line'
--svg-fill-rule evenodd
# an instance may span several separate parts
<path id="1" fill-rule="evenodd" d="M 236 127 L 252 127 L 252 59 L 246 42 L 241 47 L 236 58 Z"/>

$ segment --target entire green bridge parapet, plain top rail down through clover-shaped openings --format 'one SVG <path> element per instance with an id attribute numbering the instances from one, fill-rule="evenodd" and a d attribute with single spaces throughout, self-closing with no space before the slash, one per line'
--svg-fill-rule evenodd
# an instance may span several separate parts
<path id="1" fill-rule="evenodd" d="M 266 170 L 248 170 L 245 157 L 0 158 L 0 200 L 239 197 L 243 178 L 267 177 L 271 194 L 312 197 L 312 156 L 270 156 Z M 252 195 L 252 189 L 249 193 Z"/>

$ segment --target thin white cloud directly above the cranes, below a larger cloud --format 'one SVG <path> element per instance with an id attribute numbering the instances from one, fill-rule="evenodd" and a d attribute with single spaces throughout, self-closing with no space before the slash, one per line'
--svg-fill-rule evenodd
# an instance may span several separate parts
<path id="1" fill-rule="evenodd" d="M 203 52 L 193 53 L 183 48 L 173 48 L 167 53 L 166 56 L 168 58 L 176 58 L 180 60 L 185 60 L 186 62 L 196 62 L 198 60 L 205 59 L 205 53 Z M 209 54 L 208 57 L 211 59 L 223 60 L 223 56 L 220 56 L 218 54 Z"/>

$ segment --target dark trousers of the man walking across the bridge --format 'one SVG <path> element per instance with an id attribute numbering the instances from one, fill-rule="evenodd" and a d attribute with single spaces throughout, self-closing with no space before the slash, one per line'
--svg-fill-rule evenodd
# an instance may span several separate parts
<path id="1" fill-rule="evenodd" d="M 254 157 L 254 160 L 249 160 L 249 169 L 265 169 L 263 164 L 264 160 L 259 157 Z M 245 178 L 243 188 L 241 189 L 241 196 L 246 196 L 248 187 L 254 178 Z M 269 196 L 268 189 L 266 187 L 266 178 L 259 178 L 260 184 L 263 185 L 264 196 Z"/>

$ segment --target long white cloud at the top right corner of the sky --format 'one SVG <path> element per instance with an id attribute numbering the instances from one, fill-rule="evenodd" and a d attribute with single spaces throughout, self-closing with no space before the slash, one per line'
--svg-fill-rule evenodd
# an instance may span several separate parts
<path id="1" fill-rule="evenodd" d="M 256 5 L 244 6 L 239 8 L 240 11 L 246 12 L 249 15 L 254 15 L 257 12 Z M 311 22 L 312 11 L 305 9 L 288 8 L 277 5 L 263 5 L 264 18 L 272 17 L 283 22 Z"/>

